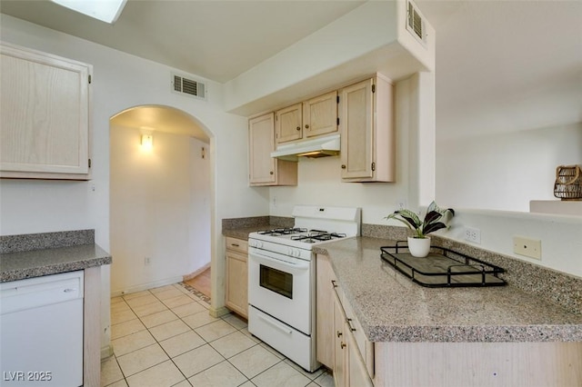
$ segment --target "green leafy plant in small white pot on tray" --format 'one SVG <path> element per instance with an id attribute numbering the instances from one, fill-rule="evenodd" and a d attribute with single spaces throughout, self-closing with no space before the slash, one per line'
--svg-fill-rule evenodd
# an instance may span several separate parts
<path id="1" fill-rule="evenodd" d="M 413 236 L 408 237 L 408 250 L 416 257 L 426 257 L 430 250 L 430 237 L 428 233 L 434 233 L 437 230 L 447 227 L 447 218 L 445 216 L 455 216 L 455 210 L 452 208 L 440 208 L 435 201 L 430 203 L 426 208 L 425 219 L 420 219 L 418 214 L 413 211 L 404 209 L 396 210 L 394 213 L 386 216 L 386 219 L 396 219 L 412 230 Z"/>

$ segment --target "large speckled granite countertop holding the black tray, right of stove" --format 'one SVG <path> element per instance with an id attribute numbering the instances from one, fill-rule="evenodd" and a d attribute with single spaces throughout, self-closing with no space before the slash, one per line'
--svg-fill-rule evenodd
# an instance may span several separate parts
<path id="1" fill-rule="evenodd" d="M 507 285 L 426 288 L 380 258 L 394 241 L 357 237 L 314 247 L 371 342 L 580 342 L 582 314 Z M 577 292 L 572 289 L 572 292 Z"/>

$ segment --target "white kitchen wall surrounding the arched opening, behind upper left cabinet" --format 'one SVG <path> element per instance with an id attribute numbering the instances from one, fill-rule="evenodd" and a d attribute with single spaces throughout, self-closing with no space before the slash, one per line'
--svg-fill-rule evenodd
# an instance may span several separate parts
<path id="1" fill-rule="evenodd" d="M 224 260 L 218 259 L 224 250 L 221 219 L 268 212 L 264 193 L 247 186 L 246 118 L 224 113 L 221 85 L 206 81 L 207 101 L 174 94 L 170 92 L 170 74 L 175 69 L 8 15 L 0 16 L 0 32 L 5 42 L 94 65 L 93 180 L 76 183 L 2 180 L 1 233 L 92 228 L 96 243 L 109 250 L 109 119 L 137 105 L 168 105 L 195 117 L 210 137 L 211 252 L 213 263 L 216 261 L 216 273 L 221 273 L 224 269 Z M 115 256 L 113 259 L 115 262 Z M 213 307 L 220 306 L 224 299 L 222 281 L 213 283 Z M 110 338 L 108 266 L 102 269 L 102 285 L 102 344 L 106 346 Z"/>

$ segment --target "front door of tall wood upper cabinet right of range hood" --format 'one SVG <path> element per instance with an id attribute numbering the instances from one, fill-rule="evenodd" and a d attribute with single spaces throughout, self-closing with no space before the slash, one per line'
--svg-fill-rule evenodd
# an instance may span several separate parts
<path id="1" fill-rule="evenodd" d="M 371 178 L 373 154 L 373 80 L 352 84 L 340 92 L 342 178 Z"/>

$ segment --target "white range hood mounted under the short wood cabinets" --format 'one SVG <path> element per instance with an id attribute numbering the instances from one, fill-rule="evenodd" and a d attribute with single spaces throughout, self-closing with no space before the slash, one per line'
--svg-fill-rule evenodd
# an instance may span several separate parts
<path id="1" fill-rule="evenodd" d="M 339 134 L 317 137 L 297 143 L 277 145 L 271 157 L 288 161 L 297 161 L 298 156 L 325 157 L 339 154 Z"/>

